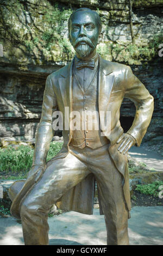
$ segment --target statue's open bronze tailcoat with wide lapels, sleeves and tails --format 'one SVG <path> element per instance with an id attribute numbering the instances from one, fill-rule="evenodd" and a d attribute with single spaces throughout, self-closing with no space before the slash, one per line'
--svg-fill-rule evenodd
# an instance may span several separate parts
<path id="1" fill-rule="evenodd" d="M 42 116 L 36 139 L 39 139 L 40 133 L 44 133 L 45 138 L 47 138 L 47 132 L 52 131 L 52 114 L 54 111 L 59 110 L 62 112 L 64 127 L 70 123 L 70 112 L 72 111 L 72 65 L 73 60 L 64 68 L 53 72 L 47 77 L 43 96 Z M 106 118 L 106 112 L 110 111 L 111 126 L 109 134 L 106 135 L 110 141 L 109 153 L 118 171 L 123 175 L 124 197 L 128 211 L 130 211 L 128 159 L 127 155 L 123 155 L 117 151 L 118 145 L 116 144 L 117 139 L 123 134 L 120 124 L 120 107 L 124 97 L 128 97 L 135 103 L 135 118 L 128 133 L 135 138 L 136 145 L 139 146 L 152 118 L 153 96 L 149 94 L 139 79 L 133 75 L 129 66 L 109 62 L 102 57 L 99 57 L 98 83 L 99 118 L 101 111 L 105 113 L 104 118 Z M 102 131 L 104 133 L 106 132 L 103 127 Z M 53 157 L 47 164 L 51 164 L 54 159 L 65 157 L 68 154 L 71 133 L 71 130 L 63 130 L 63 147 L 57 156 Z M 39 156 L 39 159 L 43 162 L 46 159 L 46 148 L 48 148 L 47 145 L 49 145 L 50 140 L 48 143 L 45 142 L 43 144 L 42 139 L 40 144 L 38 139 L 35 156 Z M 57 203 L 58 207 L 84 214 L 92 214 L 94 187 L 95 180 L 93 176 L 87 176 L 84 181 L 80 182 L 80 184 L 60 198 Z M 101 204 L 100 212 L 103 214 Z"/>

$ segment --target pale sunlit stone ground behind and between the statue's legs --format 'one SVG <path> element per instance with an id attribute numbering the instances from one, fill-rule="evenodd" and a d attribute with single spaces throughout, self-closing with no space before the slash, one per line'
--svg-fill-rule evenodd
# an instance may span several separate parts
<path id="1" fill-rule="evenodd" d="M 94 209 L 93 215 L 65 212 L 48 218 L 50 245 L 106 245 L 104 216 Z M 161 206 L 141 206 L 131 209 L 130 245 L 163 245 L 163 215 Z M 21 222 L 0 217 L 0 245 L 23 245 Z"/>

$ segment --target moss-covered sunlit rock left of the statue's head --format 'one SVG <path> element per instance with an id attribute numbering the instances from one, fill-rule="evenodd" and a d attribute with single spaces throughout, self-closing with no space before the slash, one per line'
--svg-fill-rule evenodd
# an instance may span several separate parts
<path id="1" fill-rule="evenodd" d="M 25 54 L 36 59 L 41 56 L 45 62 L 66 61 L 73 57 L 67 38 L 67 21 L 71 9 L 59 8 L 56 3 L 46 1 L 40 7 L 41 14 L 37 14 L 39 0 L 35 0 L 36 10 L 30 11 L 26 10 L 26 4 L 20 0 L 3 2 L 0 10 L 3 27 L 0 37 L 2 44 L 10 48 L 10 56 L 15 56 L 15 51 L 12 52 L 14 45 L 20 54 L 22 52 L 21 56 Z"/>

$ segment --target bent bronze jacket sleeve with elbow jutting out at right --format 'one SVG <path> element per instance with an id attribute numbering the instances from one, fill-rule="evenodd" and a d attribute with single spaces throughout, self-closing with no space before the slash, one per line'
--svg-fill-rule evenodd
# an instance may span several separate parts
<path id="1" fill-rule="evenodd" d="M 153 96 L 149 94 L 146 87 L 133 74 L 129 66 L 127 66 L 126 70 L 125 88 L 124 97 L 133 101 L 136 107 L 133 125 L 127 133 L 135 138 L 136 145 L 139 147 L 152 118 L 154 100 Z"/>

